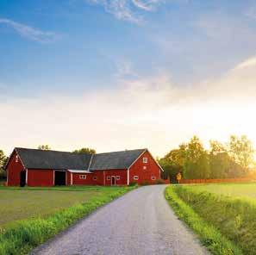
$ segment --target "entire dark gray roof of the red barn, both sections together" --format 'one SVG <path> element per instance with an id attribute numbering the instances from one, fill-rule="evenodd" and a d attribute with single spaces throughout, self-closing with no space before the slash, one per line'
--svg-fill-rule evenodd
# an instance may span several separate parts
<path id="1" fill-rule="evenodd" d="M 127 169 L 146 149 L 107 152 L 95 155 L 74 152 L 15 148 L 22 164 L 30 169 L 110 170 Z M 8 165 L 8 164 L 7 164 Z M 6 166 L 7 166 L 6 165 Z"/>

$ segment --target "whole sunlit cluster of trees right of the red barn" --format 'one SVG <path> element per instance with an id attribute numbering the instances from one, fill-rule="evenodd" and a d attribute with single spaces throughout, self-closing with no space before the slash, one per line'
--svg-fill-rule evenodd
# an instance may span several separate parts
<path id="1" fill-rule="evenodd" d="M 253 167 L 253 153 L 253 144 L 245 135 L 232 135 L 227 144 L 210 140 L 209 150 L 194 136 L 159 159 L 159 164 L 172 182 L 178 172 L 186 179 L 247 177 Z"/>

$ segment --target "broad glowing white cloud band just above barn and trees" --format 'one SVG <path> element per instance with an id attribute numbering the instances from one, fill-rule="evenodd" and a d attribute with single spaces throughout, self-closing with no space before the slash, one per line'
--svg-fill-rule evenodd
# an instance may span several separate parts
<path id="1" fill-rule="evenodd" d="M 2 102 L 1 146 L 7 152 L 13 146 L 44 143 L 68 151 L 81 146 L 98 152 L 148 147 L 163 155 L 193 134 L 203 141 L 247 134 L 256 142 L 255 73 L 256 65 L 234 67 L 222 78 L 190 87 L 159 74 L 120 79 L 112 90 L 77 97 L 41 95 Z"/>

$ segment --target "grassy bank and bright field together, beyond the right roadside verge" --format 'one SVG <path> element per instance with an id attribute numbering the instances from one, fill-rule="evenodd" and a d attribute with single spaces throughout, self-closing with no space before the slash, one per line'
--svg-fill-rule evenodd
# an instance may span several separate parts
<path id="1" fill-rule="evenodd" d="M 215 227 L 222 236 L 236 244 L 243 254 L 256 254 L 254 189 L 256 185 L 253 183 L 172 187 L 178 199 L 208 226 Z"/>

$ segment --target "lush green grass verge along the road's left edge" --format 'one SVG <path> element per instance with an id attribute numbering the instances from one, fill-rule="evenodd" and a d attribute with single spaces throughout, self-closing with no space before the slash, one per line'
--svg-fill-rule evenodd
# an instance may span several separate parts
<path id="1" fill-rule="evenodd" d="M 90 189 L 90 187 L 88 188 Z M 92 197 L 88 202 L 78 203 L 70 208 L 59 210 L 47 218 L 16 221 L 15 224 L 6 229 L 0 228 L 0 254 L 28 254 L 32 248 L 41 245 L 47 239 L 71 226 L 84 215 L 91 214 L 98 207 L 122 196 L 133 188 L 109 189 L 111 192 L 105 192 L 101 196 Z"/>

